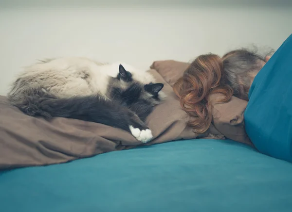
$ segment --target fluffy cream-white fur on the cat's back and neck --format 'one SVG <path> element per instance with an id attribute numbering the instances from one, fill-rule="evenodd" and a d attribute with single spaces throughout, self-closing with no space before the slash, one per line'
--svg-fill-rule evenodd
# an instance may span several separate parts
<path id="1" fill-rule="evenodd" d="M 26 79 L 31 87 L 43 87 L 58 98 L 87 96 L 99 93 L 106 95 L 109 83 L 108 77 L 116 77 L 119 65 L 132 73 L 133 79 L 142 83 L 154 82 L 151 74 L 138 70 L 126 63 L 102 64 L 82 57 L 62 57 L 49 59 L 30 65 L 18 77 Z M 40 74 L 41 73 L 41 74 Z M 83 79 L 89 76 L 86 81 Z M 9 95 L 18 91 L 13 89 Z"/>

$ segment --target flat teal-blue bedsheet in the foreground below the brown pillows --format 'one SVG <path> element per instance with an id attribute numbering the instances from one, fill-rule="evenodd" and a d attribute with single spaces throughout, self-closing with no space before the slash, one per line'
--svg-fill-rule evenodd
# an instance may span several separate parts
<path id="1" fill-rule="evenodd" d="M 292 212 L 292 163 L 187 140 L 0 174 L 0 212 Z"/>

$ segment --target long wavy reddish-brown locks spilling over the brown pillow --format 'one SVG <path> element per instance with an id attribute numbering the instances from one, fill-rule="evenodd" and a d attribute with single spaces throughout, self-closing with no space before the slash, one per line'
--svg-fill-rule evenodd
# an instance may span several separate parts
<path id="1" fill-rule="evenodd" d="M 180 98 L 183 110 L 193 117 L 188 125 L 197 133 L 203 133 L 212 122 L 212 107 L 209 95 L 220 93 L 219 102 L 227 102 L 233 95 L 229 85 L 221 83 L 223 64 L 218 55 L 199 56 L 174 84 L 174 92 Z"/>

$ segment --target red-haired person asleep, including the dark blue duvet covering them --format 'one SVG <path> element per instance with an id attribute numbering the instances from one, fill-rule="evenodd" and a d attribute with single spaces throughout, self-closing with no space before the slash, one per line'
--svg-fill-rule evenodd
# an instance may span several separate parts
<path id="1" fill-rule="evenodd" d="M 242 126 L 254 147 L 292 163 L 291 59 L 292 34 L 272 58 L 245 49 L 222 58 L 199 56 L 174 85 L 183 110 L 193 117 L 189 125 L 197 132 L 206 131 L 212 122 L 211 96 L 225 103 L 234 95 L 248 101 Z"/>

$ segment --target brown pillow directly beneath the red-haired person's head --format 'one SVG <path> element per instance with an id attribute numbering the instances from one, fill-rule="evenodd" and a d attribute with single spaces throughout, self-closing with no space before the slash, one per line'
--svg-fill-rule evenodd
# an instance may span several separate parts
<path id="1" fill-rule="evenodd" d="M 158 73 L 171 86 L 183 76 L 183 72 L 188 67 L 188 63 L 178 62 L 174 60 L 155 61 L 151 68 L 157 70 Z M 216 96 L 210 97 L 217 98 Z M 217 103 L 213 105 L 213 123 L 214 127 L 221 132 L 226 138 L 252 145 L 244 128 L 243 113 L 246 108 L 247 101 L 232 97 L 227 103 Z"/>

